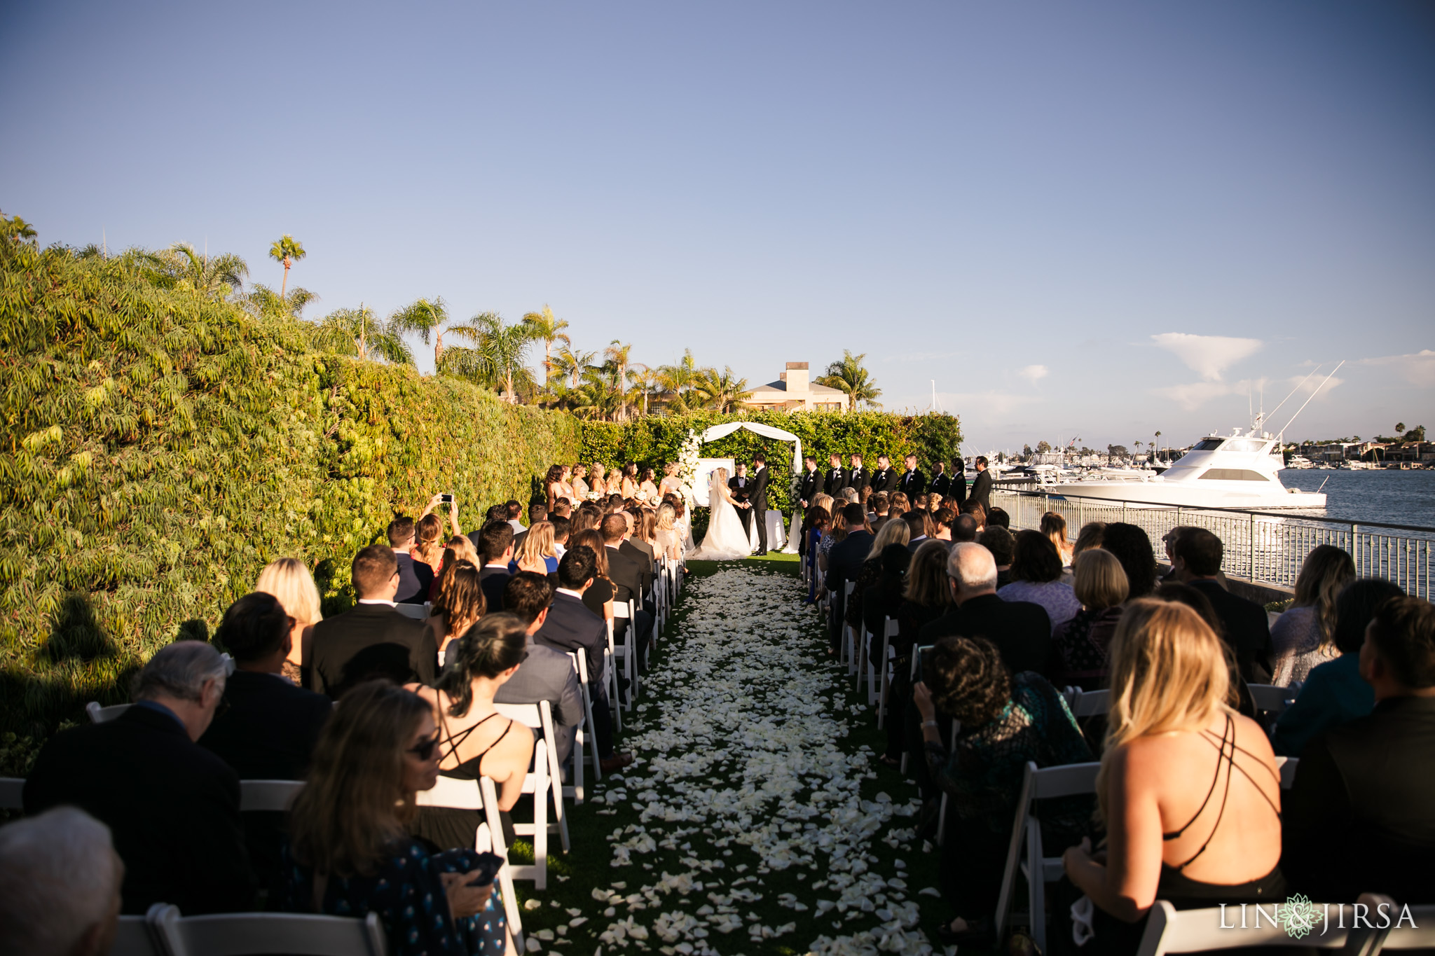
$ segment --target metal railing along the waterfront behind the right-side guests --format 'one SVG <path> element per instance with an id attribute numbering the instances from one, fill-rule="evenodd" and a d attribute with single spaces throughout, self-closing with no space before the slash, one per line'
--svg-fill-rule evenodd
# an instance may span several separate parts
<path id="1" fill-rule="evenodd" d="M 1060 486 L 1056 486 L 1060 487 Z M 1012 516 L 1012 527 L 1040 527 L 1042 515 L 1056 512 L 1066 519 L 1071 537 L 1088 522 L 1126 522 L 1151 537 L 1157 558 L 1165 559 L 1162 535 L 1177 526 L 1204 527 L 1225 546 L 1221 570 L 1234 578 L 1293 588 L 1306 555 L 1320 545 L 1335 545 L 1355 559 L 1356 575 L 1385 578 L 1405 593 L 1431 599 L 1435 572 L 1435 527 L 1353 523 L 1333 517 L 1281 515 L 1243 509 L 1195 509 L 1152 506 L 1075 497 L 1053 492 L 993 489 L 992 505 Z"/>

